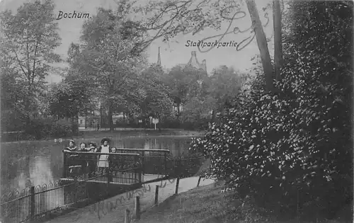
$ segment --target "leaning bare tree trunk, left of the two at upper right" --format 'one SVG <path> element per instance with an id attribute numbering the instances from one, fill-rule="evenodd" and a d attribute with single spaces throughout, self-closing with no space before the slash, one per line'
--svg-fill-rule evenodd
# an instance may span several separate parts
<path id="1" fill-rule="evenodd" d="M 246 3 L 247 8 L 249 8 L 249 14 L 251 16 L 254 33 L 256 35 L 258 49 L 261 53 L 261 61 L 265 74 L 265 90 L 271 92 L 273 91 L 273 67 L 270 60 L 267 39 L 265 38 L 261 20 L 259 19 L 256 3 L 254 0 L 246 0 Z"/>

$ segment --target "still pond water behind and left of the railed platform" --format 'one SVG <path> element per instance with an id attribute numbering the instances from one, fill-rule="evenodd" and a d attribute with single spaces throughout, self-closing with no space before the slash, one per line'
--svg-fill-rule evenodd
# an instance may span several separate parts
<path id="1" fill-rule="evenodd" d="M 173 156 L 181 156 L 188 150 L 190 137 L 123 137 L 111 138 L 115 147 L 127 149 L 169 149 Z M 76 139 L 76 143 L 101 139 Z M 63 142 L 35 141 L 1 143 L 1 194 L 22 190 L 31 185 L 56 182 L 62 177 L 63 154 L 68 139 Z"/>

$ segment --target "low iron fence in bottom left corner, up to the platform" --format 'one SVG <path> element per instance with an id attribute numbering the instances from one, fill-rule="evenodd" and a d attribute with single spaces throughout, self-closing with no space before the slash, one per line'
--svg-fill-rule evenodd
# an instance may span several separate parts
<path id="1" fill-rule="evenodd" d="M 72 182 L 57 181 L 48 185 L 36 185 L 22 190 L 21 193 L 16 191 L 3 195 L 0 205 L 1 222 L 28 222 L 47 212 L 82 202 L 88 198 L 85 181 L 102 176 L 93 176 L 84 181 L 75 178 Z"/>

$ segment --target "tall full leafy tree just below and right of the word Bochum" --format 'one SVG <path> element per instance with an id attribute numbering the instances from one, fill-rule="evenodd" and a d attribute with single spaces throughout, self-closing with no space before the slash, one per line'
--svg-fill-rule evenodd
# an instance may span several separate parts
<path id="1" fill-rule="evenodd" d="M 108 108 L 108 122 L 113 130 L 113 113 L 117 105 L 139 103 L 139 76 L 144 62 L 137 42 L 142 33 L 127 19 L 130 3 L 120 1 L 116 11 L 98 8 L 96 16 L 83 25 L 82 44 L 72 63 L 76 78 L 83 79 L 102 98 Z"/>

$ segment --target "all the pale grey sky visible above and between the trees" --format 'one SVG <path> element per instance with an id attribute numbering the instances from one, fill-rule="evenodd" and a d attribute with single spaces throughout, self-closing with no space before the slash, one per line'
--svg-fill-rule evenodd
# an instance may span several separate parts
<path id="1" fill-rule="evenodd" d="M 0 0 L 0 11 L 5 9 L 11 9 L 16 11 L 18 6 L 21 6 L 24 2 L 33 1 L 33 0 Z M 73 11 L 76 12 L 88 12 L 91 15 L 96 13 L 96 8 L 98 6 L 103 6 L 104 8 L 113 8 L 115 0 L 54 0 L 56 4 L 55 13 L 63 11 L 64 13 L 70 13 Z M 271 0 L 255 0 L 258 8 L 258 13 L 261 18 L 263 25 L 265 25 L 267 19 L 264 18 L 265 12 L 268 12 L 269 22 L 268 25 L 263 27 L 265 35 L 267 38 L 270 38 L 268 42 L 268 47 L 270 50 L 270 56 L 273 57 L 273 13 L 271 8 L 267 11 L 263 11 L 262 8 L 267 4 L 271 3 Z M 141 0 L 139 3 L 147 2 L 147 0 Z M 227 65 L 228 67 L 234 67 L 234 69 L 239 69 L 241 71 L 246 71 L 253 66 L 253 61 L 251 57 L 259 54 L 257 47 L 256 38 L 244 47 L 242 50 L 236 50 L 236 47 L 214 47 L 210 50 L 210 47 L 204 47 L 198 49 L 198 47 L 186 46 L 188 41 L 191 43 L 198 42 L 198 40 L 205 40 L 206 44 L 208 42 L 242 42 L 246 38 L 253 37 L 251 31 L 246 31 L 244 33 L 230 33 L 224 35 L 222 39 L 220 36 L 217 38 L 211 38 L 215 35 L 222 35 L 227 31 L 232 31 L 234 28 L 239 28 L 239 30 L 247 30 L 251 27 L 251 18 L 246 7 L 241 8 L 241 11 L 246 13 L 244 18 L 240 18 L 232 21 L 230 24 L 229 21 L 224 21 L 220 30 L 213 30 L 212 28 L 205 28 L 200 30 L 200 32 L 183 35 L 182 33 L 177 35 L 175 38 L 169 42 L 163 42 L 161 39 L 156 39 L 152 42 L 151 45 L 147 48 L 146 54 L 148 61 L 151 63 L 157 62 L 157 55 L 159 47 L 161 54 L 161 65 L 166 69 L 171 69 L 171 67 L 176 66 L 177 64 L 186 64 L 189 59 L 192 51 L 197 52 L 197 58 L 199 62 L 202 62 L 203 59 L 207 62 L 207 72 L 212 72 L 212 69 L 215 69 L 222 65 Z M 60 45 L 56 52 L 62 56 L 62 58 L 67 57 L 67 50 L 71 42 L 79 42 L 79 36 L 81 33 L 81 26 L 84 23 L 84 20 L 78 18 L 66 18 L 57 20 L 59 23 L 59 32 L 62 36 L 62 45 Z M 228 30 L 229 27 L 229 30 Z M 190 44 L 191 45 L 191 44 Z M 207 52 L 205 52 L 207 51 Z M 66 67 L 67 64 L 56 64 L 59 67 Z M 51 75 L 47 78 L 48 82 L 57 82 L 61 78 L 59 75 Z"/>

